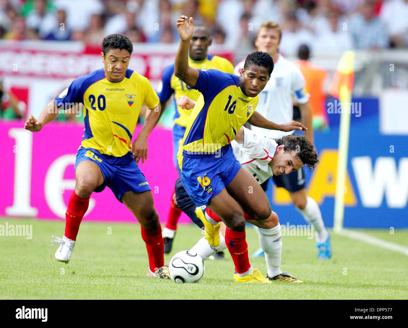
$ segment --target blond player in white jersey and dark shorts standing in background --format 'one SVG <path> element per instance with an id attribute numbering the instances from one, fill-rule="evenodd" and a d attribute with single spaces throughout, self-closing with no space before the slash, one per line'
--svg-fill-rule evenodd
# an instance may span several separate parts
<path id="1" fill-rule="evenodd" d="M 278 24 L 265 22 L 259 28 L 255 39 L 256 49 L 271 55 L 275 64 L 271 78 L 258 96 L 257 112 L 267 119 L 273 118 L 276 123 L 290 121 L 293 119 L 293 97 L 295 97 L 302 115 L 302 123 L 308 128 L 305 136 L 313 143 L 312 113 L 309 105 L 309 95 L 304 92 L 304 77 L 295 64 L 278 53 L 281 36 L 282 32 Z M 241 73 L 244 62 L 245 59 L 235 66 L 237 75 Z M 282 136 L 293 134 L 293 131 L 281 132 L 255 126 L 252 129 L 262 132 L 269 139 L 282 138 Z M 319 205 L 307 195 L 304 168 L 288 175 L 274 176 L 273 181 L 277 187 L 283 187 L 289 192 L 296 208 L 301 212 L 305 220 L 314 226 L 318 258 L 331 258 L 330 235 L 324 226 Z M 262 187 L 266 194 L 271 194 L 271 181 L 267 181 Z M 254 256 L 257 255 L 262 255 L 262 251 L 259 250 L 254 254 Z"/>

